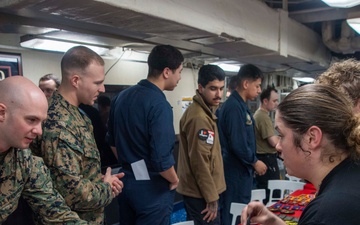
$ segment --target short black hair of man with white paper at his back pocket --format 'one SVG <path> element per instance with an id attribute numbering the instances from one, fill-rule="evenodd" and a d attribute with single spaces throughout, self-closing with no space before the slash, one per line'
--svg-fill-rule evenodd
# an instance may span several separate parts
<path id="1" fill-rule="evenodd" d="M 184 56 L 175 47 L 157 45 L 151 50 L 148 57 L 148 77 L 157 77 L 166 67 L 175 71 L 183 61 Z"/>

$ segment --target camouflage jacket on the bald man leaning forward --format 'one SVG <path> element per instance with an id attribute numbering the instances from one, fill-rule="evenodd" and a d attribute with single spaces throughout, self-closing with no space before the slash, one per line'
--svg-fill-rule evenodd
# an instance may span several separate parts
<path id="1" fill-rule="evenodd" d="M 29 149 L 0 154 L 0 224 L 15 211 L 22 196 L 42 224 L 88 224 L 80 221 L 54 189 L 43 160 Z"/>

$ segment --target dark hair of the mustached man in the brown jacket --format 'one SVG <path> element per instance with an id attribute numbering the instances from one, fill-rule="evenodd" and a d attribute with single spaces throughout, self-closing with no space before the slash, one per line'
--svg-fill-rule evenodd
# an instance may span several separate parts
<path id="1" fill-rule="evenodd" d="M 199 70 L 198 84 L 205 87 L 210 81 L 225 80 L 225 72 L 217 65 L 205 65 Z"/>

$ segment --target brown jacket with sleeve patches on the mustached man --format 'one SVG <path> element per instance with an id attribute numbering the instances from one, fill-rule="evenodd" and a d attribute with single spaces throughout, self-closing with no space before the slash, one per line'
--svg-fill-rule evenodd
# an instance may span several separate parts
<path id="1" fill-rule="evenodd" d="M 226 189 L 215 110 L 196 91 L 180 120 L 177 192 L 207 203 L 218 200 Z"/>

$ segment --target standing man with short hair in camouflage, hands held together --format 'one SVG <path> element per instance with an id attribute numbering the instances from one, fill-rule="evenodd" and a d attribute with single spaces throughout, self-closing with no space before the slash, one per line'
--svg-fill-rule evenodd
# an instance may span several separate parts
<path id="1" fill-rule="evenodd" d="M 102 179 L 93 127 L 78 106 L 93 105 L 105 91 L 104 61 L 94 51 L 77 46 L 63 56 L 61 71 L 62 81 L 49 100 L 48 118 L 38 143 L 40 155 L 68 206 L 80 218 L 103 224 L 104 207 L 121 192 L 119 178 L 123 174 L 111 175 L 109 167 Z"/>

